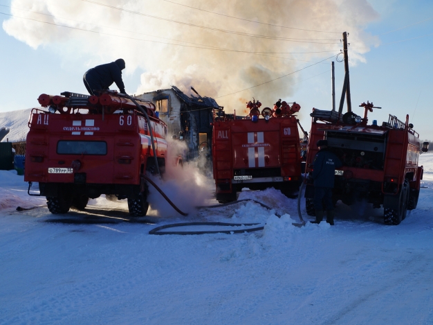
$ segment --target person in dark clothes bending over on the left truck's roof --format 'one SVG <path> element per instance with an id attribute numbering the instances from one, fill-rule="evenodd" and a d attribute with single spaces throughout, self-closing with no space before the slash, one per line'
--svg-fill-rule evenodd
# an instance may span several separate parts
<path id="1" fill-rule="evenodd" d="M 89 94 L 94 95 L 95 90 L 107 90 L 116 82 L 119 91 L 126 94 L 122 80 L 122 70 L 125 69 L 125 60 L 101 64 L 84 73 L 83 82 Z"/>

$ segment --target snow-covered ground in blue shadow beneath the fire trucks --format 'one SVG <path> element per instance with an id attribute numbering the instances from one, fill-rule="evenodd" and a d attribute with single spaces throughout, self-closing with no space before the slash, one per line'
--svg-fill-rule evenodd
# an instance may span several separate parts
<path id="1" fill-rule="evenodd" d="M 418 207 L 398 226 L 383 225 L 383 209 L 338 204 L 334 227 L 294 227 L 296 200 L 274 189 L 239 197 L 273 210 L 241 202 L 181 217 L 152 194 L 142 219 L 104 197 L 55 216 L 23 176 L 0 171 L 0 324 L 433 324 L 433 155 L 420 160 Z M 185 195 L 215 204 L 203 184 L 169 195 L 182 209 Z M 192 221 L 266 226 L 148 234 Z"/>

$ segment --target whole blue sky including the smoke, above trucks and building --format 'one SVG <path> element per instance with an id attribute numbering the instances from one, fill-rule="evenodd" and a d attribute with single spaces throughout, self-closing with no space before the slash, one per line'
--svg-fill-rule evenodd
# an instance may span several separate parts
<path id="1" fill-rule="evenodd" d="M 129 94 L 193 86 L 238 114 L 252 97 L 282 98 L 301 105 L 309 130 L 313 107 L 331 109 L 331 61 L 339 103 L 347 31 L 353 112 L 369 100 L 383 107 L 370 122 L 409 114 L 433 140 L 433 1 L 0 0 L 0 12 L 0 112 L 38 107 L 43 93 L 86 94 L 86 70 L 123 58 Z"/>

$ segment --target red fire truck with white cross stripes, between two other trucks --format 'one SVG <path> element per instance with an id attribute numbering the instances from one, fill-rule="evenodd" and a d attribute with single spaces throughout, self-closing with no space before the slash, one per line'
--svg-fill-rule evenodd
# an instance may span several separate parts
<path id="1" fill-rule="evenodd" d="M 237 200 L 242 188 L 278 188 L 293 195 L 300 185 L 301 149 L 296 116 L 300 105 L 279 100 L 261 109 L 250 101 L 248 116 L 214 111 L 212 160 L 216 200 Z"/>

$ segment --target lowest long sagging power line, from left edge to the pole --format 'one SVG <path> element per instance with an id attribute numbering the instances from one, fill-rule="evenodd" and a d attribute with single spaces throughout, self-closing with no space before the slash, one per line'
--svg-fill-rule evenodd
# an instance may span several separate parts
<path id="1" fill-rule="evenodd" d="M 329 52 L 335 52 L 335 50 L 331 50 L 331 51 L 315 51 L 315 52 L 259 52 L 259 51 L 240 51 L 240 50 L 231 50 L 231 49 L 219 49 L 219 48 L 203 47 L 203 46 L 190 46 L 190 45 L 184 45 L 184 44 L 173 44 L 173 43 L 165 43 L 165 42 L 153 41 L 151 39 L 141 39 L 141 38 L 136 38 L 136 37 L 122 36 L 122 35 L 116 35 L 116 34 L 110 34 L 110 33 L 102 33 L 102 32 L 100 32 L 98 30 L 89 30 L 89 29 L 85 29 L 85 28 L 78 28 L 78 27 L 66 26 L 66 25 L 62 25 L 62 24 L 55 24 L 55 23 L 51 23 L 49 21 L 42 21 L 42 20 L 37 20 L 37 19 L 33 19 L 33 18 L 28 18 L 28 17 L 20 17 L 20 16 L 17 16 L 17 15 L 10 15 L 10 14 L 7 14 L 5 12 L 0 12 L 0 14 L 1 15 L 10 16 L 10 17 L 27 19 L 27 20 L 31 20 L 31 21 L 37 21 L 39 23 L 48 24 L 48 25 L 52 25 L 52 26 L 59 26 L 59 27 L 73 29 L 73 30 L 81 30 L 81 31 L 85 31 L 85 32 L 89 32 L 89 33 L 94 33 L 94 34 L 108 35 L 108 36 L 120 37 L 120 38 L 125 38 L 125 39 L 133 39 L 133 40 L 141 41 L 141 42 L 151 42 L 151 43 L 158 43 L 158 44 L 165 44 L 165 45 L 172 45 L 172 46 L 182 46 L 182 47 L 187 47 L 187 48 L 191 48 L 191 49 L 202 49 L 202 50 L 223 51 L 223 52 L 233 52 L 233 53 L 250 53 L 250 54 L 308 54 L 308 53 L 329 53 Z"/>

